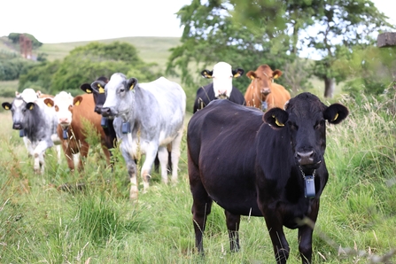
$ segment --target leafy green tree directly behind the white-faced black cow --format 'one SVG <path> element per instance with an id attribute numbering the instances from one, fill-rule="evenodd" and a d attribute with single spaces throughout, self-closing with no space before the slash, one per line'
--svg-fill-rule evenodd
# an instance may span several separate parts
<path id="1" fill-rule="evenodd" d="M 247 72 L 261 64 L 279 68 L 293 60 L 287 55 L 287 36 L 276 38 L 281 35 L 277 30 L 236 23 L 231 12 L 233 4 L 229 1 L 209 0 L 201 4 L 193 0 L 183 6 L 177 13 L 184 26 L 182 44 L 171 49 L 167 74 L 180 74 L 182 83 L 196 90 L 207 82 L 200 77 L 200 71 L 219 61 Z M 236 82 L 237 88 L 245 91 L 251 81 L 239 78 Z"/>

